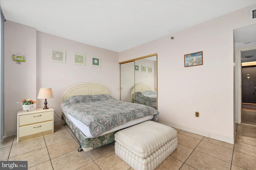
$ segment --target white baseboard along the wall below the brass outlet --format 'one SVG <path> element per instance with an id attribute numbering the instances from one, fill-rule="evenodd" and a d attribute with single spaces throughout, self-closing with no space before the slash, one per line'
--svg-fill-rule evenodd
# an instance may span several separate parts
<path id="1" fill-rule="evenodd" d="M 222 136 L 222 135 L 218 135 L 218 134 L 214 134 L 214 133 L 210 133 L 210 132 L 206 132 L 206 131 L 200 131 L 198 129 L 193 129 L 193 128 L 182 126 L 182 125 L 177 125 L 175 123 L 170 123 L 170 122 L 159 120 L 159 119 L 158 119 L 158 123 L 161 123 L 161 124 L 164 124 L 167 126 L 171 126 L 171 127 L 175 127 L 177 129 L 181 129 L 181 130 L 188 131 L 191 133 L 195 133 L 197 135 L 201 135 L 201 136 L 208 137 L 211 139 L 216 139 L 218 141 L 223 141 L 226 143 L 234 144 L 234 139 L 230 138 L 230 137 L 226 137 L 226 136 Z"/>

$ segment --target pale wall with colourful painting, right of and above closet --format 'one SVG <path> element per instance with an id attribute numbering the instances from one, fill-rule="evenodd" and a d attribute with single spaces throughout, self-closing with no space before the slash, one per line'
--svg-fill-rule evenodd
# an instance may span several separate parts
<path id="1" fill-rule="evenodd" d="M 119 54 L 122 62 L 158 53 L 160 123 L 234 143 L 233 29 L 256 23 L 249 22 L 249 9 L 255 6 Z M 184 55 L 198 51 L 203 51 L 203 65 L 185 68 Z"/>

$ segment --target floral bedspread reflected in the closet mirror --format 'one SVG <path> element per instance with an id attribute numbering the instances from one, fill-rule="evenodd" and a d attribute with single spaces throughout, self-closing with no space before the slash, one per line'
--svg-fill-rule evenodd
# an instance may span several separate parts
<path id="1" fill-rule="evenodd" d="M 156 109 L 156 92 L 135 92 L 135 103 L 144 104 L 146 106 L 154 107 Z"/>

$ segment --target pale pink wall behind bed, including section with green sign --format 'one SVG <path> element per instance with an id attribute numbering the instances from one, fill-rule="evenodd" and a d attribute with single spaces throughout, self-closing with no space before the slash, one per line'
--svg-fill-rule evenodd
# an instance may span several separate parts
<path id="1" fill-rule="evenodd" d="M 48 99 L 48 107 L 53 107 L 61 116 L 61 97 L 70 87 L 80 83 L 97 83 L 105 86 L 110 94 L 120 99 L 120 66 L 118 53 L 106 49 L 78 43 L 28 27 L 6 21 L 4 23 L 4 81 L 5 81 L 5 135 L 17 133 L 17 111 L 22 109 L 24 98 L 37 100 L 36 107 L 44 107 L 44 100 L 37 99 L 40 88 L 52 88 L 54 98 Z M 66 63 L 50 61 L 51 49 L 66 51 Z M 26 63 L 16 64 L 12 54 L 25 55 Z M 73 64 L 74 53 L 86 55 L 86 65 Z M 101 57 L 101 67 L 92 67 L 91 56 Z M 60 123 L 54 115 L 54 123 Z"/>

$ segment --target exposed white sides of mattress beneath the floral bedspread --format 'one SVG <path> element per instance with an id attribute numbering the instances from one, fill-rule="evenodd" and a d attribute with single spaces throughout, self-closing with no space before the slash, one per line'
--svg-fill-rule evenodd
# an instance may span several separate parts
<path id="1" fill-rule="evenodd" d="M 69 119 L 74 123 L 74 125 L 76 125 L 76 127 L 86 136 L 86 137 L 89 137 L 89 138 L 94 138 L 91 133 L 90 133 L 90 130 L 89 130 L 89 127 L 86 126 L 84 123 L 82 123 L 81 121 L 75 119 L 74 117 L 72 117 L 71 115 L 69 115 L 68 113 L 65 113 Z M 147 121 L 147 120 L 150 120 L 150 119 L 153 119 L 154 115 L 148 115 L 148 116 L 145 116 L 145 117 L 142 117 L 140 119 L 136 119 L 136 120 L 133 120 L 133 121 L 129 121 L 123 125 L 120 125 L 118 127 L 115 127 L 114 129 L 111 129 L 110 131 L 107 131 L 107 132 L 104 132 L 102 133 L 100 136 L 102 135 L 105 135 L 107 133 L 111 133 L 111 132 L 114 132 L 114 131 L 118 131 L 120 129 L 124 129 L 126 127 L 130 127 L 132 125 L 136 125 L 138 123 L 141 123 L 141 122 L 144 122 L 144 121 Z"/>

